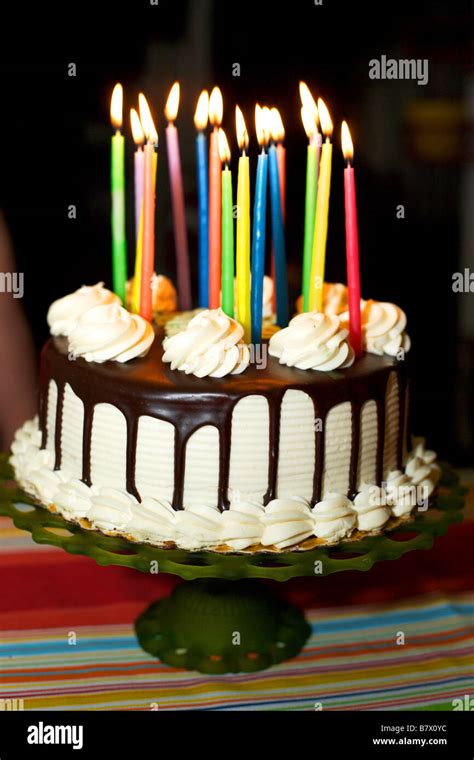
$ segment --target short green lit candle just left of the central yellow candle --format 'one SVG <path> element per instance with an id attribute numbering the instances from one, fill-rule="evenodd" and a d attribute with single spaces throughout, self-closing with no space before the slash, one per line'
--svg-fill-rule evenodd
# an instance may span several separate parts
<path id="1" fill-rule="evenodd" d="M 222 310 L 234 316 L 234 214 L 230 148 L 223 129 L 219 129 L 219 158 L 222 168 Z"/>

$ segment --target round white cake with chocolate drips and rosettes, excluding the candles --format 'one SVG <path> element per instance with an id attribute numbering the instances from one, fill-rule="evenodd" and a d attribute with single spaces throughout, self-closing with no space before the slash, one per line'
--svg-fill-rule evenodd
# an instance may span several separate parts
<path id="1" fill-rule="evenodd" d="M 221 309 L 167 337 L 101 284 L 55 302 L 18 482 L 83 527 L 190 550 L 334 544 L 425 509 L 439 468 L 407 450 L 405 315 L 365 302 L 354 358 L 345 287 L 325 296 L 258 357 Z"/>

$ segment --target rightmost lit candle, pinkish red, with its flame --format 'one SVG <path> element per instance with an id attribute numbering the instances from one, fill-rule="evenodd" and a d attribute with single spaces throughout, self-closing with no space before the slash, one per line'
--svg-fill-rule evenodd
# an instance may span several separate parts
<path id="1" fill-rule="evenodd" d="M 360 315 L 359 233 L 357 229 L 357 205 L 352 159 L 354 146 L 345 121 L 341 127 L 342 153 L 346 159 L 344 169 L 344 208 L 346 212 L 346 260 L 347 290 L 349 301 L 350 342 L 357 356 L 362 351 Z"/>

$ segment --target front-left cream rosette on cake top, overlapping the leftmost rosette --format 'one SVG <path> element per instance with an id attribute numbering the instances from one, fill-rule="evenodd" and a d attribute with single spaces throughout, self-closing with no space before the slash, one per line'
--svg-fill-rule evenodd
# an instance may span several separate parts
<path id="1" fill-rule="evenodd" d="M 73 359 L 123 363 L 145 356 L 154 339 L 149 322 L 111 303 L 96 306 L 82 315 L 69 335 L 69 352 Z"/>

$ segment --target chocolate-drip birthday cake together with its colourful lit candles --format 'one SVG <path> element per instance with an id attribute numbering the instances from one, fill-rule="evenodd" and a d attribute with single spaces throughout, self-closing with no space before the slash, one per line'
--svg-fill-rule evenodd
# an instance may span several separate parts
<path id="1" fill-rule="evenodd" d="M 131 541 L 220 552 L 304 551 L 357 541 L 394 529 L 411 519 L 415 510 L 428 507 L 440 470 L 436 455 L 425 449 L 423 440 L 409 445 L 406 316 L 395 304 L 360 300 L 350 159 L 345 173 L 346 214 L 352 214 L 350 223 L 346 218 L 349 287 L 313 276 L 324 275 L 329 203 L 332 124 L 323 105 L 319 110 L 329 126 L 320 173 L 326 179 L 320 177 L 317 206 L 315 192 L 307 196 L 306 211 L 311 213 L 305 218 L 305 298 L 304 303 L 299 299 L 297 314 L 289 323 L 279 184 L 284 173 L 278 163 L 284 153 L 275 143 L 266 153 L 268 136 L 280 139 L 282 125 L 274 132 L 258 130 L 258 120 L 271 112 L 257 108 L 262 152 L 250 271 L 248 134 L 237 113 L 242 163 L 234 290 L 229 150 L 227 141 L 221 140 L 222 182 L 227 188 L 221 217 L 216 150 L 222 99 L 219 107 L 211 103 L 211 164 L 214 170 L 218 166 L 218 172 L 209 173 L 211 185 L 214 182 L 214 192 L 209 192 L 213 212 L 206 215 L 207 200 L 201 208 L 200 243 L 207 243 L 209 221 L 210 248 L 207 252 L 200 246 L 199 261 L 201 274 L 206 273 L 200 291 L 203 283 L 207 288 L 209 271 L 213 308 L 177 312 L 171 282 L 152 276 L 156 132 L 149 111 L 141 108 L 140 119 L 148 124 L 145 155 L 138 149 L 136 156 L 145 161 L 144 183 L 137 184 L 144 194 L 142 217 L 140 206 L 136 209 L 137 230 L 143 222 L 143 236 L 137 233 L 137 240 L 143 237 L 143 243 L 137 245 L 135 284 L 128 288 L 123 281 L 124 231 L 117 226 L 124 224 L 123 198 L 116 205 L 117 224 L 112 225 L 120 232 L 114 249 L 114 283 L 118 275 L 122 281 L 115 290 L 121 292 L 126 308 L 102 283 L 83 286 L 52 304 L 51 338 L 41 356 L 39 416 L 22 426 L 12 445 L 16 479 L 39 504 L 83 528 Z M 313 103 L 306 117 L 303 113 L 310 123 L 308 156 L 312 153 L 314 161 L 321 147 L 321 140 L 314 139 L 319 134 L 315 109 Z M 188 274 L 183 277 L 181 265 L 188 252 L 182 244 L 186 235 L 177 131 L 172 123 L 176 114 L 175 103 L 168 109 L 167 140 L 169 156 L 174 158 L 169 165 L 176 180 L 172 197 L 178 298 L 183 306 L 189 304 L 189 269 L 186 265 Z M 120 127 L 120 114 L 114 123 Z M 198 148 L 205 147 L 206 123 L 207 117 L 196 122 L 201 130 Z M 112 191 L 117 199 L 123 190 L 123 138 L 118 131 L 113 143 Z M 199 155 L 202 159 L 206 153 Z M 267 158 L 273 281 L 263 274 Z M 204 192 L 207 175 L 200 176 Z M 316 175 L 308 177 L 309 186 Z M 222 278 L 220 259 L 215 257 L 221 231 Z M 216 241 L 219 245 L 213 250 L 211 243 Z M 317 256 L 311 260 L 313 248 Z M 311 291 L 314 306 L 308 307 L 305 282 L 306 286 L 318 283 L 317 292 Z"/>

